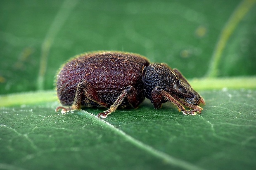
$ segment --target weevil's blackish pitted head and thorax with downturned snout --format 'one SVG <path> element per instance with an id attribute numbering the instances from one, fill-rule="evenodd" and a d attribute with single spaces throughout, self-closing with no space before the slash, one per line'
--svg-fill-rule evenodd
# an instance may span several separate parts
<path id="1" fill-rule="evenodd" d="M 179 74 L 163 63 L 152 63 L 145 67 L 142 71 L 145 96 L 152 99 L 152 90 L 157 87 L 188 104 L 198 106 L 204 103 L 204 99 Z"/>

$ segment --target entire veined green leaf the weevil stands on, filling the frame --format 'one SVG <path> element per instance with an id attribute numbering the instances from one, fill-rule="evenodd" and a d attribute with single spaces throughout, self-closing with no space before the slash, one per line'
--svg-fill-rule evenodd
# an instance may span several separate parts
<path id="1" fill-rule="evenodd" d="M 255 4 L 1 0 L 0 169 L 254 169 Z M 139 53 L 197 77 L 202 114 L 170 103 L 154 110 L 148 100 L 104 120 L 99 108 L 56 113 L 57 70 L 98 50 Z"/>

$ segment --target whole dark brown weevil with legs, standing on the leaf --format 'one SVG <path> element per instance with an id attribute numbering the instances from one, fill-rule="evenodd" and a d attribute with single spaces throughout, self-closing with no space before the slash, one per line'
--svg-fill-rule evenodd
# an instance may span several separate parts
<path id="1" fill-rule="evenodd" d="M 150 64 L 146 57 L 119 51 L 85 53 L 69 60 L 57 74 L 57 96 L 62 113 L 81 107 L 109 108 L 98 117 L 106 118 L 116 108 L 137 108 L 147 97 L 154 108 L 170 101 L 185 115 L 196 115 L 204 99 L 192 89 L 177 69 Z M 185 107 L 193 109 L 186 110 Z"/>

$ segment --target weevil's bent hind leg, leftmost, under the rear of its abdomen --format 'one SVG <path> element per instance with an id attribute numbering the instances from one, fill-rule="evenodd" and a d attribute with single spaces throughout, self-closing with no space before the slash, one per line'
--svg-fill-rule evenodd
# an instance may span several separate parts
<path id="1" fill-rule="evenodd" d="M 86 80 L 81 80 L 81 82 L 78 83 L 78 85 L 76 87 L 76 93 L 75 93 L 73 105 L 68 108 L 59 106 L 56 108 L 56 111 L 62 109 L 62 111 L 61 111 L 62 113 L 67 113 L 69 111 L 79 110 L 79 109 L 81 109 L 82 100 L 94 101 L 95 103 L 98 103 L 99 105 L 101 105 L 103 107 L 108 106 L 107 103 L 104 103 L 103 101 L 100 100 L 97 92 L 92 87 L 92 85 L 90 85 L 90 83 L 88 83 Z"/>

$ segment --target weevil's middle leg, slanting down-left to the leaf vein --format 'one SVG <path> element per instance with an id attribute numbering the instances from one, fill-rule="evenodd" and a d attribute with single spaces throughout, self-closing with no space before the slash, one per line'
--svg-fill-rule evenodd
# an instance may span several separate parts
<path id="1" fill-rule="evenodd" d="M 98 114 L 98 117 L 106 118 L 109 114 L 116 111 L 118 106 L 123 102 L 124 99 L 128 99 L 128 102 L 134 107 L 137 108 L 137 106 L 140 104 L 140 102 L 137 101 L 137 90 L 133 86 L 127 86 L 125 90 L 117 97 L 116 101 L 110 106 L 110 108 L 102 113 Z"/>

